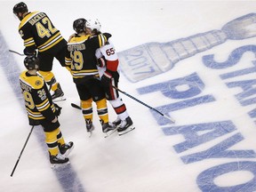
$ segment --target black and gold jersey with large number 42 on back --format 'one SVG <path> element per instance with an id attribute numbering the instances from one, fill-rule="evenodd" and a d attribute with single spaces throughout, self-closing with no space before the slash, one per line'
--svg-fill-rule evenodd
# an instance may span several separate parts
<path id="1" fill-rule="evenodd" d="M 38 52 L 45 52 L 52 47 L 59 50 L 58 46 L 67 44 L 60 30 L 53 26 L 44 12 L 28 12 L 20 21 L 19 33 L 27 52 L 35 52 L 36 49 Z"/>

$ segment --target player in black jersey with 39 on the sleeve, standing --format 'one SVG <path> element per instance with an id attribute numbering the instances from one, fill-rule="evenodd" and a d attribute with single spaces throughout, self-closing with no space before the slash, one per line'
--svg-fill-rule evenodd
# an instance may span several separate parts
<path id="1" fill-rule="evenodd" d="M 37 74 L 39 59 L 33 55 L 26 57 L 24 65 L 28 70 L 20 74 L 20 88 L 25 100 L 30 125 L 41 124 L 44 128 L 45 142 L 50 155 L 50 163 L 68 163 L 68 154 L 74 147 L 72 141 L 65 143 L 60 132 L 60 107 L 52 102 L 44 78 Z"/>

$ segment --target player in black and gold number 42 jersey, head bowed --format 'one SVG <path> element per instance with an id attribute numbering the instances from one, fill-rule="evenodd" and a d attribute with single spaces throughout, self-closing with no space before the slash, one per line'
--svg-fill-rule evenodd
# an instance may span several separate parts
<path id="1" fill-rule="evenodd" d="M 38 51 L 38 58 L 42 63 L 39 73 L 52 89 L 52 100 L 62 98 L 64 92 L 52 73 L 52 63 L 55 58 L 62 67 L 66 67 L 67 41 L 44 12 L 28 12 L 27 4 L 20 2 L 14 5 L 13 13 L 20 20 L 19 33 L 24 40 L 24 54 L 32 56 Z"/>

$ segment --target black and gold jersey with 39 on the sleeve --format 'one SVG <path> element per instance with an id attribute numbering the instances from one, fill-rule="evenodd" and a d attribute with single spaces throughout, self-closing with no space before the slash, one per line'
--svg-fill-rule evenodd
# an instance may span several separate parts
<path id="1" fill-rule="evenodd" d="M 23 71 L 20 74 L 20 88 L 25 100 L 29 124 L 38 125 L 41 120 L 52 122 L 55 118 L 55 108 L 43 77 L 30 75 L 27 70 Z"/>

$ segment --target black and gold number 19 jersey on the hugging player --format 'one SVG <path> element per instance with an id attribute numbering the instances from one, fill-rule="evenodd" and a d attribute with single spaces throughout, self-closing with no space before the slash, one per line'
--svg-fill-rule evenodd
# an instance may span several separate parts
<path id="1" fill-rule="evenodd" d="M 71 69 L 74 83 L 83 82 L 84 79 L 99 76 L 95 52 L 105 45 L 111 35 L 73 36 L 68 42 L 66 65 Z"/>

